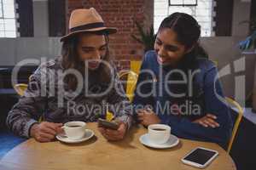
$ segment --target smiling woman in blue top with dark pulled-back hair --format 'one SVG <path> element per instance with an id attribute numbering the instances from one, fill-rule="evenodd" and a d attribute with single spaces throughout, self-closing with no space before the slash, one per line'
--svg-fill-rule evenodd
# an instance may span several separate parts
<path id="1" fill-rule="evenodd" d="M 144 126 L 163 123 L 178 137 L 225 146 L 230 112 L 220 100 L 217 68 L 199 46 L 200 34 L 189 14 L 174 13 L 161 22 L 154 51 L 143 59 L 133 104 Z"/>

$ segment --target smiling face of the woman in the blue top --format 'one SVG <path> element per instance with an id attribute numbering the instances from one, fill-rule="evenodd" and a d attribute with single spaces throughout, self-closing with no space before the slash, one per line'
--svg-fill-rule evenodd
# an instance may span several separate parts
<path id="1" fill-rule="evenodd" d="M 160 65 L 177 65 L 187 50 L 177 42 L 177 33 L 170 28 L 161 29 L 154 42 L 154 50 Z"/>

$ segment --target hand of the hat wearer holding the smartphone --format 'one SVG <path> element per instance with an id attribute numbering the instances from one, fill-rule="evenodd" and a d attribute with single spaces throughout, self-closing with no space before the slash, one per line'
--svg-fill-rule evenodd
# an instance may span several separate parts
<path id="1" fill-rule="evenodd" d="M 119 128 L 117 130 L 112 130 L 104 127 L 98 127 L 98 129 L 106 139 L 116 141 L 124 139 L 127 130 L 127 125 L 124 122 L 120 122 Z"/>

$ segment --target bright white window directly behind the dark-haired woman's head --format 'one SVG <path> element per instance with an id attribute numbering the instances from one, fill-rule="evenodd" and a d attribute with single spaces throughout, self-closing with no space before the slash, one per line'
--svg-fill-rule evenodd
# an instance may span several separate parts
<path id="1" fill-rule="evenodd" d="M 169 6 L 170 3 L 178 5 Z M 186 6 L 186 3 L 189 5 Z M 195 3 L 197 3 L 196 6 Z M 160 22 L 167 15 L 182 12 L 195 17 L 201 26 L 201 37 L 214 36 L 214 32 L 212 31 L 212 27 L 214 26 L 212 21 L 213 4 L 214 0 L 154 0 L 154 31 L 156 32 L 158 30 Z"/>

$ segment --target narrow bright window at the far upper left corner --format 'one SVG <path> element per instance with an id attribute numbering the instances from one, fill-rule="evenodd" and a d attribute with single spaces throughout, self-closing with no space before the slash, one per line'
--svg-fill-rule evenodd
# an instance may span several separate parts
<path id="1" fill-rule="evenodd" d="M 17 37 L 15 0 L 0 0 L 0 37 Z"/>

